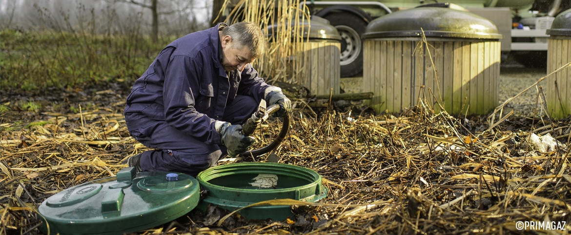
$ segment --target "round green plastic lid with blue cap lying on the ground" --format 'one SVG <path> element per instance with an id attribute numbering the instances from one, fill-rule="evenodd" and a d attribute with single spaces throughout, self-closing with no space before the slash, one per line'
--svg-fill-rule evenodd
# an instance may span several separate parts
<path id="1" fill-rule="evenodd" d="M 123 234 L 175 220 L 196 207 L 198 181 L 172 172 L 135 173 L 77 185 L 47 198 L 38 210 L 50 234 Z"/>

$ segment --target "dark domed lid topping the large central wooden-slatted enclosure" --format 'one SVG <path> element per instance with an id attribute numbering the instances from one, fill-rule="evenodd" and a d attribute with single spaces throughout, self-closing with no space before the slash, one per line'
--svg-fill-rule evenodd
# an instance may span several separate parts
<path id="1" fill-rule="evenodd" d="M 422 29 L 422 30 L 421 30 Z M 452 3 L 421 5 L 396 11 L 369 23 L 363 39 L 421 37 L 501 39 L 497 26 Z"/>

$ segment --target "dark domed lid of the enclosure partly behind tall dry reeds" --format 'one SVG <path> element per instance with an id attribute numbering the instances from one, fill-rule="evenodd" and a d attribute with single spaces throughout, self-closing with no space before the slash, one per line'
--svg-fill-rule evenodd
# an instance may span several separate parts
<path id="1" fill-rule="evenodd" d="M 299 22 L 289 22 L 286 23 L 286 26 L 293 26 L 295 24 L 299 26 L 303 26 L 303 38 L 309 37 L 309 39 L 332 39 L 332 40 L 341 40 L 341 35 L 335 28 L 329 24 L 327 19 L 316 17 L 315 15 L 311 16 L 311 19 L 307 21 L 307 19 L 303 19 Z M 274 30 L 278 28 L 278 24 L 268 26 L 268 37 L 272 37 L 274 35 Z"/>

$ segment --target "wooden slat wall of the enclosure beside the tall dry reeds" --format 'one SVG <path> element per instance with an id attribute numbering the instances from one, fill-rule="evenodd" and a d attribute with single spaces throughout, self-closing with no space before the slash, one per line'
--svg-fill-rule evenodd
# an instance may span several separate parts
<path id="1" fill-rule="evenodd" d="M 294 83 L 309 89 L 311 95 L 340 93 L 340 49 L 337 40 L 311 39 L 299 43 L 295 64 L 292 65 Z"/>

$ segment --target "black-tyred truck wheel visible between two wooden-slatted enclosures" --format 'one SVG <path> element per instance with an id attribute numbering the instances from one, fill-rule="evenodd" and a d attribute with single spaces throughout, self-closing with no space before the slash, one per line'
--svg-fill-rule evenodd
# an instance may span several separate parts
<path id="1" fill-rule="evenodd" d="M 367 22 L 350 13 L 325 15 L 341 35 L 341 77 L 355 76 L 363 71 L 363 40 L 361 34 L 367 29 Z"/>

